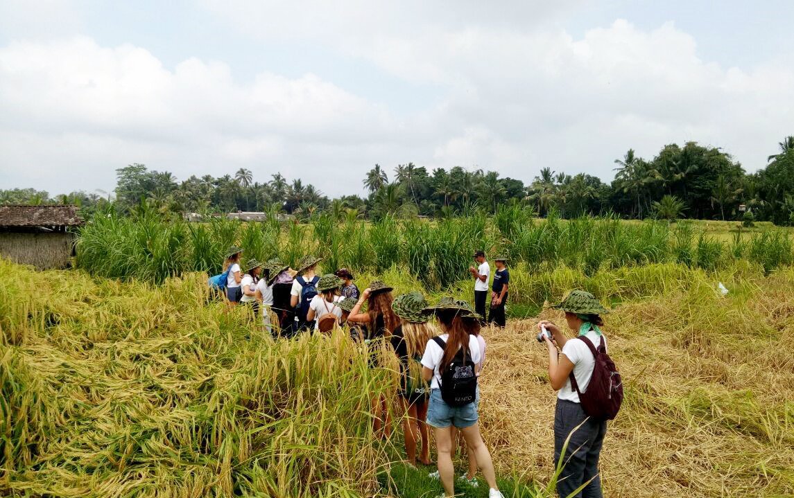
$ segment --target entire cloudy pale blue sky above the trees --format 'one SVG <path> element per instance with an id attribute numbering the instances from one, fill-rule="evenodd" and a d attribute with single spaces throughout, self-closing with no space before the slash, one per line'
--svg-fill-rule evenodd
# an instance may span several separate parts
<path id="1" fill-rule="evenodd" d="M 630 147 L 794 134 L 794 2 L 0 0 L 0 189 L 376 163 L 614 177 Z"/>

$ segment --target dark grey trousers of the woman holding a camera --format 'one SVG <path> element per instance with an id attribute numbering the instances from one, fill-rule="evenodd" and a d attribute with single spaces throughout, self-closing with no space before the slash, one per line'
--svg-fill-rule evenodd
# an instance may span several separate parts
<path id="1" fill-rule="evenodd" d="M 563 468 L 557 478 L 557 494 L 561 498 L 602 498 L 598 459 L 603 436 L 607 433 L 607 421 L 588 419 L 581 405 L 573 401 L 557 400 L 557 409 L 554 411 L 554 467 L 557 468 L 557 462 L 560 461 L 565 439 L 580 423 L 582 427 L 571 435 L 565 456 L 562 457 Z M 571 494 L 587 481 L 590 484 L 582 491 Z"/>

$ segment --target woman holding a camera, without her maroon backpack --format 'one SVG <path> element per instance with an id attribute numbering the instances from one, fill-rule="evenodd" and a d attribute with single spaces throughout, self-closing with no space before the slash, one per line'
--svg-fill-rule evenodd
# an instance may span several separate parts
<path id="1" fill-rule="evenodd" d="M 600 327 L 603 326 L 601 315 L 609 311 L 591 293 L 573 290 L 553 308 L 565 312 L 565 321 L 577 337 L 586 337 L 596 348 L 602 341 L 604 347 L 607 347 L 607 338 Z M 568 339 L 552 322 L 542 320 L 538 328 L 545 328 L 553 335 L 553 338 L 545 335 L 545 343 L 549 347 L 549 380 L 552 388 L 557 391 L 557 409 L 554 411 L 554 465 L 556 467 L 561 459 L 565 463 L 557 477 L 557 493 L 560 496 L 577 498 L 601 498 L 603 494 L 599 456 L 603 437 L 607 433 L 607 421 L 593 419 L 584 413 L 579 395 L 572 389 L 570 379 L 573 373 L 579 392 L 587 391 L 595 368 L 595 358 L 584 340 Z M 561 348 L 562 354 L 557 352 L 557 347 Z M 569 435 L 571 439 L 565 454 L 561 454 L 565 439 Z M 588 481 L 589 484 L 580 493 L 573 494 Z"/>

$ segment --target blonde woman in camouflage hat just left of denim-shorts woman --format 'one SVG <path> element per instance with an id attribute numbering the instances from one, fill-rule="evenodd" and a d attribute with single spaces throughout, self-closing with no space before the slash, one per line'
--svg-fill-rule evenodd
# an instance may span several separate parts
<path id="1" fill-rule="evenodd" d="M 402 320 L 391 332 L 391 347 L 399 358 L 400 386 L 399 404 L 403 412 L 403 436 L 405 452 L 410 465 L 416 465 L 416 443 L 422 438 L 419 462 L 430 465 L 430 433 L 425 419 L 430 388 L 422 378 L 422 353 L 427 341 L 437 335 L 433 325 L 428 324 L 430 315 L 422 313 L 427 307 L 422 293 L 416 291 L 398 296 L 391 308 Z"/>

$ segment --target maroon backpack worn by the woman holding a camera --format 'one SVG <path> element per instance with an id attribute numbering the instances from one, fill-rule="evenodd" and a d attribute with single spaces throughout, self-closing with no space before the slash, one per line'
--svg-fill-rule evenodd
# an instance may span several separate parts
<path id="1" fill-rule="evenodd" d="M 595 349 L 590 339 L 584 335 L 576 339 L 581 339 L 588 345 L 595 358 L 595 366 L 593 366 L 593 374 L 590 377 L 587 391 L 580 393 L 573 371 L 570 376 L 571 387 L 579 395 L 582 409 L 588 416 L 592 416 L 594 419 L 615 419 L 623 401 L 623 382 L 620 372 L 615 367 L 615 362 L 607 354 L 603 339 L 598 349 Z"/>

